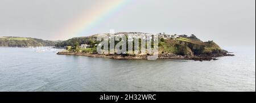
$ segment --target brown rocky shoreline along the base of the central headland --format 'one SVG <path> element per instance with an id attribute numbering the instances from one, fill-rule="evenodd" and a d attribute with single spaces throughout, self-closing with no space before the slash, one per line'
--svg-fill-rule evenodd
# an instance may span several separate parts
<path id="1" fill-rule="evenodd" d="M 117 55 L 117 54 L 91 54 L 76 52 L 58 52 L 59 55 L 84 55 L 86 57 L 104 57 L 112 59 L 147 59 L 147 55 Z M 216 57 L 234 56 L 234 54 L 204 54 L 204 55 L 177 55 L 177 54 L 159 54 L 158 59 L 186 59 L 194 61 L 216 61 Z"/>

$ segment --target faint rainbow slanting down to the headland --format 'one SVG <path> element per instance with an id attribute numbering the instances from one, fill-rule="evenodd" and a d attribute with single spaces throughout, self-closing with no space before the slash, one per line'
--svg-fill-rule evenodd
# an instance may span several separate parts
<path id="1" fill-rule="evenodd" d="M 100 2 L 92 10 L 87 11 L 85 14 L 79 15 L 78 18 L 72 20 L 71 24 L 61 33 L 62 37 L 76 37 L 85 36 L 85 33 L 90 29 L 100 24 L 104 20 L 110 18 L 115 12 L 121 10 L 122 7 L 127 5 L 131 0 L 108 0 Z"/>

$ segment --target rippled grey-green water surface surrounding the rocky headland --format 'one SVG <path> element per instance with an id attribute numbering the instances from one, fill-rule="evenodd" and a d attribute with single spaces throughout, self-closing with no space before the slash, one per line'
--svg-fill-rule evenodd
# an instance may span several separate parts
<path id="1" fill-rule="evenodd" d="M 255 91 L 255 48 L 218 61 L 115 60 L 0 48 L 0 91 Z"/>

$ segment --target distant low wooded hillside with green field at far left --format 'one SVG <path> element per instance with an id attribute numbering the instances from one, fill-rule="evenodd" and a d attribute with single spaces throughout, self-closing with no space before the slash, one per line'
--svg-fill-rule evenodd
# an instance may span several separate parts
<path id="1" fill-rule="evenodd" d="M 0 46 L 30 47 L 30 46 L 55 46 L 56 41 L 42 40 L 30 37 L 0 37 Z"/>

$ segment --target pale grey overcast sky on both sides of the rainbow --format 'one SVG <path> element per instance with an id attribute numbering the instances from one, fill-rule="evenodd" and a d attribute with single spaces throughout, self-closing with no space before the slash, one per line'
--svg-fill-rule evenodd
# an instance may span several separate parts
<path id="1" fill-rule="evenodd" d="M 0 0 L 0 36 L 72 38 L 60 33 L 102 1 L 111 0 Z M 82 36 L 109 29 L 194 34 L 222 46 L 255 46 L 255 0 L 136 0 Z"/>

